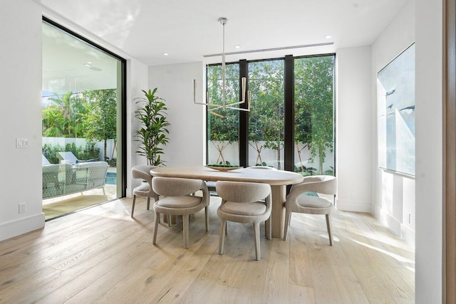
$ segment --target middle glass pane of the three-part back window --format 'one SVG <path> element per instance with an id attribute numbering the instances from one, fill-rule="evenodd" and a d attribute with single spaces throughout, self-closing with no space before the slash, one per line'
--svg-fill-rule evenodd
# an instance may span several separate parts
<path id="1" fill-rule="evenodd" d="M 284 61 L 249 63 L 249 166 L 284 168 Z"/>

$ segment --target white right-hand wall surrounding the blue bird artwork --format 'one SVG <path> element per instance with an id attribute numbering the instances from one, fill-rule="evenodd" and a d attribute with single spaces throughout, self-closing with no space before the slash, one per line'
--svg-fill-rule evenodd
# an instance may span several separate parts
<path id="1" fill-rule="evenodd" d="M 371 120 L 372 178 L 373 189 L 375 189 L 373 214 L 395 234 L 415 246 L 415 179 L 378 169 L 377 166 L 376 83 L 377 73 L 413 42 L 415 42 L 415 1 L 412 0 L 405 4 L 372 45 Z"/>

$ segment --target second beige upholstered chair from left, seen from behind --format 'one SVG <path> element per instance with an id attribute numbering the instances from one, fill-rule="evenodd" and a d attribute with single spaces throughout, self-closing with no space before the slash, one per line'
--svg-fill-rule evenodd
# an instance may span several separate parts
<path id="1" fill-rule="evenodd" d="M 209 206 L 209 192 L 206 183 L 199 179 L 179 179 L 172 177 L 154 177 L 152 179 L 152 189 L 162 196 L 162 199 L 155 201 L 155 231 L 154 245 L 157 241 L 157 229 L 160 214 L 182 215 L 184 232 L 184 248 L 188 248 L 188 229 L 189 216 L 204 209 L 206 231 L 209 226 L 207 207 Z M 202 197 L 192 195 L 202 190 Z"/>

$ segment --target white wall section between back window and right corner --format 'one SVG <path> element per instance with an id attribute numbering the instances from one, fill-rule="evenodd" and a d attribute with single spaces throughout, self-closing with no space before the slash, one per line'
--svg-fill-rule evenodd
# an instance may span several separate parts
<path id="1" fill-rule="evenodd" d="M 336 206 L 371 212 L 371 47 L 338 49 L 336 72 Z"/>

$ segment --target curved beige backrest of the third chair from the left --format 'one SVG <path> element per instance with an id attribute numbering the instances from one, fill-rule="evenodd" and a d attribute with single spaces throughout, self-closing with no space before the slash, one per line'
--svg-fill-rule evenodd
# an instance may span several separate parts
<path id="1" fill-rule="evenodd" d="M 215 184 L 215 189 L 223 200 L 237 203 L 260 201 L 271 195 L 271 186 L 269 184 L 253 182 L 219 181 Z"/>

